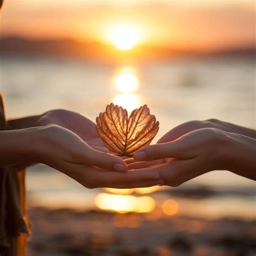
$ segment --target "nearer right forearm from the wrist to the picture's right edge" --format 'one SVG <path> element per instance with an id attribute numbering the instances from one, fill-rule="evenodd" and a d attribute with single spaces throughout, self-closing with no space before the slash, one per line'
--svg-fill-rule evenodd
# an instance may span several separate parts
<path id="1" fill-rule="evenodd" d="M 256 180 L 256 140 L 237 133 L 225 132 L 225 136 L 226 170 Z"/>

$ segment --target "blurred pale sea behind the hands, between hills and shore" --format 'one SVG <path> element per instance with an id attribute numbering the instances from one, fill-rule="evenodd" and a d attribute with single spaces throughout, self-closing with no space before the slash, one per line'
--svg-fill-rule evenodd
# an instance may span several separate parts
<path id="1" fill-rule="evenodd" d="M 255 129 L 255 63 L 248 58 L 180 58 L 116 66 L 71 59 L 2 58 L 0 89 L 9 118 L 68 109 L 95 120 L 110 102 L 129 111 L 147 104 L 160 123 L 152 143 L 189 120 L 217 118 Z M 90 210 L 99 207 L 99 193 L 110 192 L 84 188 L 44 165 L 30 167 L 27 174 L 29 207 Z M 198 187 L 211 190 L 211 195 L 192 197 L 184 192 Z M 228 171 L 213 171 L 177 188 L 131 193 L 152 197 L 156 207 L 173 199 L 179 214 L 255 218 L 254 181 Z"/>

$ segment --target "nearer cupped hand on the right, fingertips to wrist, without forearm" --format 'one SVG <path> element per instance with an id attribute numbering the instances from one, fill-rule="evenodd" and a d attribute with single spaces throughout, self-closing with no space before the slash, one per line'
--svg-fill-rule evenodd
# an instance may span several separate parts
<path id="1" fill-rule="evenodd" d="M 223 170 L 226 144 L 222 131 L 205 128 L 185 134 L 169 143 L 150 145 L 137 151 L 137 163 L 129 169 L 156 170 L 165 185 L 178 186 L 212 170 Z"/>

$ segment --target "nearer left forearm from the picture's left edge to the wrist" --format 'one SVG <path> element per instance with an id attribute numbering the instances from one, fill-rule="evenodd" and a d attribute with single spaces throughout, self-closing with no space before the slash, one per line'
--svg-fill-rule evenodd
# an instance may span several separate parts
<path id="1" fill-rule="evenodd" d="M 38 163 L 40 128 L 0 131 L 0 167 Z"/>

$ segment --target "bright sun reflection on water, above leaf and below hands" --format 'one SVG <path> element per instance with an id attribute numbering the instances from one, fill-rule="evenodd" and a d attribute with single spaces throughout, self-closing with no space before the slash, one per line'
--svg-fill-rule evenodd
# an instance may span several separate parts
<path id="1" fill-rule="evenodd" d="M 139 78 L 137 71 L 131 67 L 122 67 L 112 79 L 112 89 L 119 93 L 114 95 L 111 102 L 123 106 L 128 112 L 142 106 L 142 98 L 136 93 L 139 88 Z M 140 217 L 136 214 L 130 218 L 123 217 L 121 213 L 151 213 L 156 207 L 156 201 L 150 196 L 141 196 L 157 191 L 159 186 L 146 188 L 104 188 L 106 193 L 100 193 L 95 199 L 95 204 L 103 211 L 113 211 L 118 214 L 113 222 L 117 227 L 137 227 L 140 225 Z M 135 195 L 137 193 L 137 196 Z M 138 195 L 140 194 L 140 196 Z M 153 213 L 152 219 L 156 219 L 158 212 Z"/>

